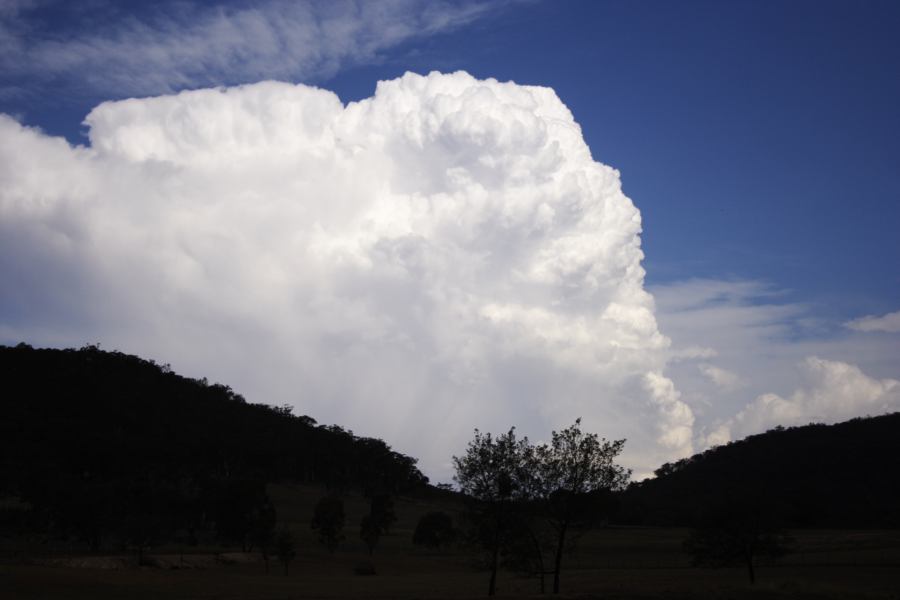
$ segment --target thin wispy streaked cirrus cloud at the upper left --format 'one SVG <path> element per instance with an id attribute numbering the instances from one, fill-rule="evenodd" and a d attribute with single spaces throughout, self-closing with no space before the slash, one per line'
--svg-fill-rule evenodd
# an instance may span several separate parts
<path id="1" fill-rule="evenodd" d="M 2 88 L 106 97 L 145 96 L 263 79 L 310 81 L 375 62 L 399 44 L 453 30 L 506 3 L 268 1 L 155 3 L 124 14 L 115 4 L 0 4 Z M 62 24 L 61 24 L 62 23 Z"/>

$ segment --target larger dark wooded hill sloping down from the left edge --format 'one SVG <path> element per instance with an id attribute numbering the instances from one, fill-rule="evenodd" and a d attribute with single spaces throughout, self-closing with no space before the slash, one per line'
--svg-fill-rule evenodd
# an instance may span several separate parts
<path id="1" fill-rule="evenodd" d="M 381 440 L 94 346 L 0 346 L 0 385 L 7 528 L 94 547 L 204 529 L 244 543 L 252 521 L 268 518 L 267 483 L 367 495 L 427 483 L 415 459 Z"/>

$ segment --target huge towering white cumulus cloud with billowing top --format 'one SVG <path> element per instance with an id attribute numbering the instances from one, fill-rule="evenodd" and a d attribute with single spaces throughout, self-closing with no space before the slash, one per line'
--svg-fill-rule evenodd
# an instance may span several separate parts
<path id="1" fill-rule="evenodd" d="M 691 450 L 640 213 L 552 90 L 408 74 L 0 118 L 0 339 L 150 355 L 379 435 L 447 477 L 473 427 L 583 416 L 647 472 Z"/>

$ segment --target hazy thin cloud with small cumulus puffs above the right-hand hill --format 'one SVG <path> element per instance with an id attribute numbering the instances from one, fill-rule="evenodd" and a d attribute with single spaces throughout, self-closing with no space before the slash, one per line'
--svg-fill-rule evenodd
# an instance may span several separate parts
<path id="1" fill-rule="evenodd" d="M 762 282 L 698 279 L 652 291 L 672 338 L 666 375 L 696 417 L 695 448 L 900 409 L 896 336 L 823 337 L 808 305 Z"/>

